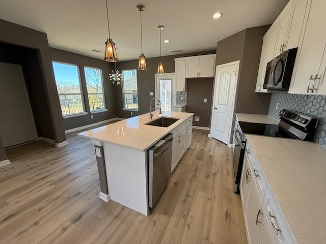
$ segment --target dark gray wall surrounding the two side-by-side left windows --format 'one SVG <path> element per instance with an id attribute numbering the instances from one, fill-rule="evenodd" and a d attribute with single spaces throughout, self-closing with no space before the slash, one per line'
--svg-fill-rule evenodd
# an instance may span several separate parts
<path id="1" fill-rule="evenodd" d="M 93 124 L 98 121 L 116 117 L 115 87 L 114 84 L 112 84 L 108 79 L 108 74 L 111 72 L 110 64 L 108 64 L 104 60 L 100 60 L 97 58 L 88 57 L 88 56 L 84 56 L 84 55 L 80 55 L 80 54 L 76 54 L 73 52 L 68 52 L 56 48 L 50 48 L 50 56 L 51 56 L 51 60 L 53 61 L 74 64 L 79 66 L 80 81 L 82 83 L 86 111 L 90 111 L 90 108 L 89 108 L 89 102 L 87 98 L 88 95 L 87 95 L 84 67 L 86 66 L 86 67 L 101 69 L 104 78 L 105 104 L 106 104 L 106 108 L 108 108 L 109 110 L 107 112 L 100 112 L 94 114 L 88 113 L 83 116 L 64 118 L 63 121 L 64 121 L 65 130 Z M 93 119 L 91 118 L 91 115 L 93 115 L 94 117 Z"/>

